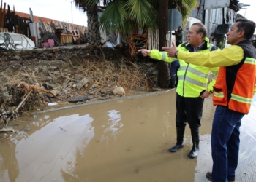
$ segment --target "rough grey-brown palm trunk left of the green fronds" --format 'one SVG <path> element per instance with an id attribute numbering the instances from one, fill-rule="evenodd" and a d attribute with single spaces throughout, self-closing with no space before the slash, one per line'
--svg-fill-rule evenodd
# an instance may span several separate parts
<path id="1" fill-rule="evenodd" d="M 99 17 L 97 14 L 97 4 L 87 9 L 88 43 L 94 47 L 101 47 L 99 33 Z"/>

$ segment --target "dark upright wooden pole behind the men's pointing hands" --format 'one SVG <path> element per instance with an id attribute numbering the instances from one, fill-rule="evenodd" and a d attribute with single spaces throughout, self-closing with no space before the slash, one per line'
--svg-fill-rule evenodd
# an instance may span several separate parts
<path id="1" fill-rule="evenodd" d="M 168 1 L 159 1 L 159 51 L 162 51 L 162 47 L 166 47 L 166 35 L 168 34 Z M 158 86 L 161 88 L 168 87 L 169 72 L 167 63 L 159 61 L 158 69 Z"/>

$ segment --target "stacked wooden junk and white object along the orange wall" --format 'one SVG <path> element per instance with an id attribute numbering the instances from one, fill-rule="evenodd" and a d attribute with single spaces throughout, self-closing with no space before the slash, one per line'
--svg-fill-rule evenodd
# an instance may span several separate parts
<path id="1" fill-rule="evenodd" d="M 0 51 L 32 50 L 35 47 L 53 47 L 86 43 L 87 28 L 59 22 L 45 17 L 15 12 L 15 7 L 0 7 Z"/>

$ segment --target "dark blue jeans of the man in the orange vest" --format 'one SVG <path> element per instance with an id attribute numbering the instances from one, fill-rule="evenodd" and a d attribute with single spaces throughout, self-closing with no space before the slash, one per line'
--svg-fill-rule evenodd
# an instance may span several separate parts
<path id="1" fill-rule="evenodd" d="M 244 114 L 217 106 L 211 130 L 212 181 L 235 178 L 238 165 L 239 135 Z"/>

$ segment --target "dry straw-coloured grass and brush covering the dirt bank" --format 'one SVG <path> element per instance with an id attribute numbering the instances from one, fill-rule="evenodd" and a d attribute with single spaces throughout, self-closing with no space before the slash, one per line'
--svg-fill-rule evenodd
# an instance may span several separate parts
<path id="1" fill-rule="evenodd" d="M 1 63 L 3 71 L 0 72 L 0 125 L 10 116 L 18 116 L 50 102 L 45 92 L 35 89 L 14 114 L 15 108 L 28 94 L 28 90 L 20 87 L 22 82 L 39 87 L 48 82 L 54 86 L 54 90 L 59 91 L 58 98 L 61 101 L 67 101 L 76 95 L 89 94 L 93 90 L 92 85 L 96 86 L 97 90 L 113 90 L 114 87 L 121 86 L 127 93 L 133 92 L 136 86 L 143 87 L 145 91 L 152 87 L 146 77 L 145 68 L 125 58 L 109 61 L 74 55 L 65 60 Z M 75 89 L 73 85 L 84 77 L 90 81 L 81 90 Z"/>

